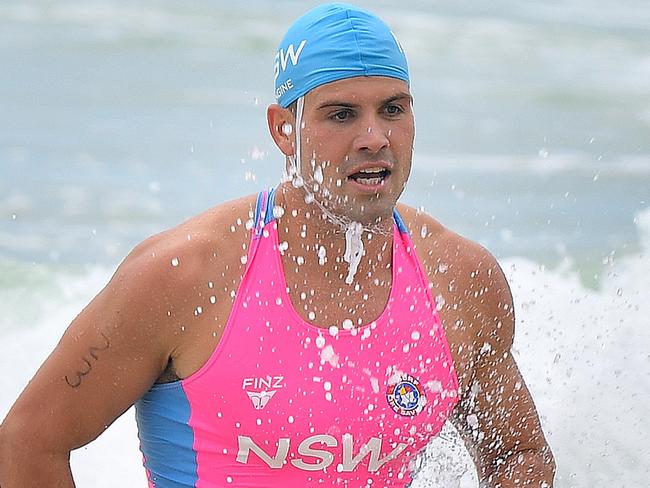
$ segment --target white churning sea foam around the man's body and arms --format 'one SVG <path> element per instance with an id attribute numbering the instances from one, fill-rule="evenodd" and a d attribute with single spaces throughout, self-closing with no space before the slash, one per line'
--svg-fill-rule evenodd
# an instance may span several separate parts
<path id="1" fill-rule="evenodd" d="M 559 488 L 645 486 L 650 475 L 650 211 L 636 220 L 643 251 L 610 262 L 598 290 L 585 288 L 567 270 L 544 269 L 523 258 L 502 262 L 517 308 L 515 356 L 555 453 Z M 27 280 L 22 300 L 16 300 L 19 290 L 2 291 L 5 318 L 16 324 L 5 320 L 0 332 L 0 369 L 11 372 L 0 376 L 1 416 L 109 275 L 41 271 L 35 278 L 47 285 L 27 286 Z M 36 306 L 36 316 L 27 312 L 28 303 Z M 73 453 L 79 486 L 145 486 L 137 446 L 129 411 Z M 453 430 L 446 430 L 430 446 L 413 486 L 476 486 L 469 458 L 458 446 Z"/>

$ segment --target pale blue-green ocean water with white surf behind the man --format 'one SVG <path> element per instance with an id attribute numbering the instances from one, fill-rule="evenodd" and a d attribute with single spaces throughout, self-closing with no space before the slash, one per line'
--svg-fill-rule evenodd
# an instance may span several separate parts
<path id="1" fill-rule="evenodd" d="M 647 486 L 650 5 L 356 3 L 409 57 L 403 200 L 510 279 L 556 486 Z M 279 181 L 273 56 L 312 4 L 0 0 L 0 417 L 137 242 Z M 132 412 L 72 462 L 145 486 Z M 476 486 L 452 431 L 414 486 Z"/>

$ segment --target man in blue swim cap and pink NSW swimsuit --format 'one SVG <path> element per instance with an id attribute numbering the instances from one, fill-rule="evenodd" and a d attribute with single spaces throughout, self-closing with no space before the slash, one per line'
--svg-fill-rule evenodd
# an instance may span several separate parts
<path id="1" fill-rule="evenodd" d="M 323 5 L 275 78 L 285 181 L 133 250 L 2 424 L 2 487 L 73 486 L 70 451 L 134 403 L 150 486 L 406 486 L 448 419 L 484 486 L 551 486 L 503 273 L 397 204 L 415 126 L 394 34 Z"/>

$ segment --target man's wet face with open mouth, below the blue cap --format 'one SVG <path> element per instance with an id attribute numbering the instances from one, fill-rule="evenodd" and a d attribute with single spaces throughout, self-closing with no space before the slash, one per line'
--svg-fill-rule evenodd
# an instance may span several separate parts
<path id="1" fill-rule="evenodd" d="M 411 171 L 411 103 L 408 85 L 387 77 L 349 78 L 310 91 L 301 134 L 307 189 L 362 223 L 389 216 Z"/>

